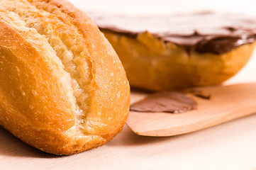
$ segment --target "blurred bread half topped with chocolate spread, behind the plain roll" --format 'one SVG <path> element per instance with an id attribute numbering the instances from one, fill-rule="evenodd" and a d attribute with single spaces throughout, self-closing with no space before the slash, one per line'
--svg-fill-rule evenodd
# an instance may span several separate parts
<path id="1" fill-rule="evenodd" d="M 130 86 L 150 91 L 221 84 L 255 48 L 256 20 L 240 14 L 89 13 L 113 45 Z"/>

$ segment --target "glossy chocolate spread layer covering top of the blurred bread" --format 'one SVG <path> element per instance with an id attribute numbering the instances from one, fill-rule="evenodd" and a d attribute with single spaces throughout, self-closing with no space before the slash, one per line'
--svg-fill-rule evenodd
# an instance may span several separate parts
<path id="1" fill-rule="evenodd" d="M 223 54 L 255 42 L 256 17 L 243 14 L 195 13 L 177 16 L 118 16 L 89 13 L 102 30 L 136 36 L 151 33 L 188 52 Z"/>

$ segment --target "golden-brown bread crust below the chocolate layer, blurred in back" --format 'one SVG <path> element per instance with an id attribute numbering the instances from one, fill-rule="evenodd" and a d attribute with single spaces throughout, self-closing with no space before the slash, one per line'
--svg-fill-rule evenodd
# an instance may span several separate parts
<path id="1" fill-rule="evenodd" d="M 150 33 L 136 38 L 103 30 L 126 69 L 130 86 L 150 91 L 210 86 L 233 77 L 249 60 L 256 42 L 221 55 L 188 53 Z"/>

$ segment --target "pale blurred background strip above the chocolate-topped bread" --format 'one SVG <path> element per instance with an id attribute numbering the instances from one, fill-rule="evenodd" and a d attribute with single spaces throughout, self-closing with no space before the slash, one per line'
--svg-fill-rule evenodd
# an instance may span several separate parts
<path id="1" fill-rule="evenodd" d="M 145 13 L 180 13 L 196 10 L 214 10 L 214 11 L 229 11 L 241 13 L 255 13 L 256 1 L 243 0 L 72 0 L 74 5 L 86 10 L 101 10 L 111 11 L 118 13 L 132 13 L 132 14 L 145 14 Z M 81 6 L 84 4 L 84 6 Z"/>

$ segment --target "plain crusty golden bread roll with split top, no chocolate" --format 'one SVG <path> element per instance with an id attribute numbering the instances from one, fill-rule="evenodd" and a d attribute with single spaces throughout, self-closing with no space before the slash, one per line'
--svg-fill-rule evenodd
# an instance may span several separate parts
<path id="1" fill-rule="evenodd" d="M 0 80 L 0 125 L 44 152 L 104 145 L 128 116 L 116 52 L 65 0 L 0 1 Z"/>

